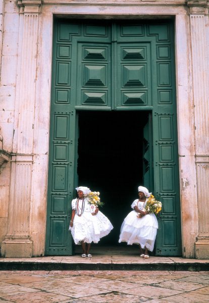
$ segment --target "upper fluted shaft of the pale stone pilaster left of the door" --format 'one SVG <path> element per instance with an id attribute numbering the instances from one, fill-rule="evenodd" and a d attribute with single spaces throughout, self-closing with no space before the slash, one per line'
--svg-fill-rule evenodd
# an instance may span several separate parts
<path id="1" fill-rule="evenodd" d="M 17 151 L 30 154 L 33 150 L 33 118 L 35 103 L 38 14 L 24 14 L 20 108 Z"/>

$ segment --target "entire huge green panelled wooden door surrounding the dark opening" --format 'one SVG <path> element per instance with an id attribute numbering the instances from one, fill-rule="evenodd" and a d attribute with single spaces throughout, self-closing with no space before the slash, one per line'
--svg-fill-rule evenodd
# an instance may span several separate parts
<path id="1" fill-rule="evenodd" d="M 172 23 L 56 21 L 54 29 L 46 254 L 72 254 L 76 112 L 125 110 L 149 112 L 141 161 L 144 185 L 163 203 L 156 254 L 181 255 Z"/>

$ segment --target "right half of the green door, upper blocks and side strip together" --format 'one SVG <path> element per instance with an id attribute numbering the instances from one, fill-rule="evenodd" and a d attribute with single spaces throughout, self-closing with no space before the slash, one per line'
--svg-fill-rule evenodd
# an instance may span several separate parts
<path id="1" fill-rule="evenodd" d="M 152 112 L 144 126 L 143 180 L 163 203 L 156 254 L 181 255 L 173 25 L 118 25 L 117 40 L 116 109 Z"/>

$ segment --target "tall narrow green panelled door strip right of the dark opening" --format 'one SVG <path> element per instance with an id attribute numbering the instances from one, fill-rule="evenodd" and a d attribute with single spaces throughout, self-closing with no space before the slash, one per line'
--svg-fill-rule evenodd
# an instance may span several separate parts
<path id="1" fill-rule="evenodd" d="M 179 256 L 182 251 L 174 28 L 171 23 L 149 25 L 148 35 L 155 37 L 156 49 L 152 53 L 156 71 L 152 88 L 156 98 L 153 103 L 154 190 L 156 198 L 163 204 L 155 253 L 159 256 Z"/>

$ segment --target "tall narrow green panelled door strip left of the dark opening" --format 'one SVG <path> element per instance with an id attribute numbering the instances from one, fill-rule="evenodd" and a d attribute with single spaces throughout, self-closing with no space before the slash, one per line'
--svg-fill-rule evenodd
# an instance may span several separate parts
<path id="1" fill-rule="evenodd" d="M 72 35 L 79 26 L 55 25 L 51 78 L 50 141 L 45 255 L 72 255 L 68 231 L 73 198 L 76 111 L 72 91 Z"/>

